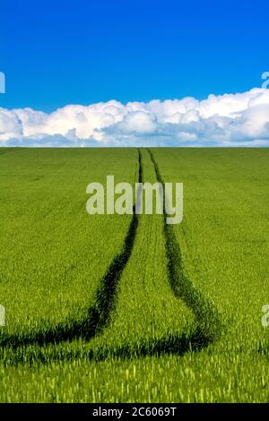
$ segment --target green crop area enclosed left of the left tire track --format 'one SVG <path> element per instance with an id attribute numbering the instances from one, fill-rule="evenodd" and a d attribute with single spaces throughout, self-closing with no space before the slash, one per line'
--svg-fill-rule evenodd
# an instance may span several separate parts
<path id="1" fill-rule="evenodd" d="M 17 150 L 0 156 L 0 297 L 4 332 L 43 330 L 94 299 L 130 216 L 90 216 L 92 181 L 131 184 L 137 151 Z"/>

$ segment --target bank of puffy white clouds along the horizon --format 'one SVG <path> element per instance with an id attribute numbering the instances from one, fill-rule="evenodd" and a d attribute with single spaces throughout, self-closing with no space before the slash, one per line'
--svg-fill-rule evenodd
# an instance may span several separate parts
<path id="1" fill-rule="evenodd" d="M 0 146 L 269 146 L 269 90 L 201 101 L 111 100 L 51 114 L 0 107 Z"/>

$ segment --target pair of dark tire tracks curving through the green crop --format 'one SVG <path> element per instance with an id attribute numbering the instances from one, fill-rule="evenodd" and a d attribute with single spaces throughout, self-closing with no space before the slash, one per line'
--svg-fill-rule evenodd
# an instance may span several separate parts
<path id="1" fill-rule="evenodd" d="M 155 169 L 157 180 L 163 185 L 158 165 L 148 150 Z M 139 161 L 139 182 L 143 182 L 142 156 L 138 150 Z M 122 252 L 117 254 L 108 267 L 108 271 L 100 281 L 96 300 L 85 317 L 78 320 L 60 323 L 47 331 L 39 333 L 18 334 L 13 336 L 0 336 L 2 347 L 12 347 L 12 357 L 9 352 L 3 355 L 3 359 L 9 364 L 17 365 L 20 362 L 33 363 L 39 361 L 43 364 L 51 360 L 70 361 L 72 358 L 86 358 L 87 360 L 102 361 L 109 357 L 135 358 L 145 356 L 161 356 L 163 354 L 176 354 L 182 356 L 189 351 L 199 351 L 207 347 L 221 332 L 221 322 L 214 306 L 197 291 L 191 280 L 187 278 L 182 262 L 182 255 L 178 240 L 171 225 L 166 224 L 166 212 L 163 215 L 163 230 L 165 236 L 165 247 L 168 259 L 169 282 L 175 296 L 182 299 L 195 314 L 195 325 L 191 331 L 174 332 L 165 335 L 160 339 L 137 340 L 136 344 L 122 343 L 116 346 L 106 344 L 95 344 L 92 348 L 83 349 L 58 349 L 46 348 L 48 344 L 72 341 L 73 339 L 91 339 L 100 334 L 108 326 L 111 314 L 113 313 L 117 300 L 117 285 L 122 272 L 126 267 L 133 247 L 138 227 L 137 215 L 131 220 Z M 39 348 L 24 348 L 25 346 L 36 344 Z M 45 347 L 44 347 L 45 346 Z M 4 349 L 3 349 L 4 350 Z"/>

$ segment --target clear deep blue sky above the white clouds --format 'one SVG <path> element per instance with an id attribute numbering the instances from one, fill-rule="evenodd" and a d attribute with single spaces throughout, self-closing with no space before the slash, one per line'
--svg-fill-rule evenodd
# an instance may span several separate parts
<path id="1" fill-rule="evenodd" d="M 268 1 L 1 3 L 5 108 L 243 92 L 268 65 Z"/>

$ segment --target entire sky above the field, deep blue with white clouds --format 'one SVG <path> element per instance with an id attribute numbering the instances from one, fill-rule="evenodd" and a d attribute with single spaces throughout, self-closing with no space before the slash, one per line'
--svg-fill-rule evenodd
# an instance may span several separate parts
<path id="1" fill-rule="evenodd" d="M 268 12 L 264 0 L 4 2 L 0 141 L 218 143 L 237 122 L 239 142 L 265 144 L 269 99 L 258 89 L 269 71 Z M 248 112 L 247 99 L 261 113 Z M 260 129 L 253 136 L 246 119 Z"/>

